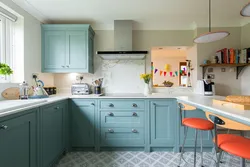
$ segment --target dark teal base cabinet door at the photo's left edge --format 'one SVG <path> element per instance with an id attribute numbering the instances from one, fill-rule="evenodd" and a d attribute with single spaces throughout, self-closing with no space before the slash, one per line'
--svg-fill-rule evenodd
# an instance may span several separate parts
<path id="1" fill-rule="evenodd" d="M 36 114 L 0 122 L 0 166 L 36 167 Z"/>

